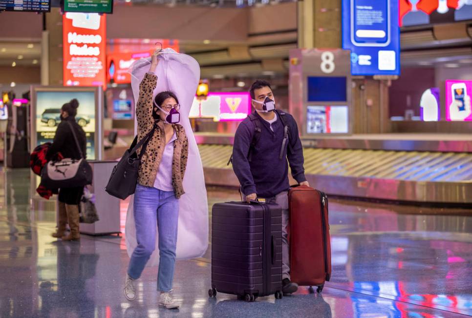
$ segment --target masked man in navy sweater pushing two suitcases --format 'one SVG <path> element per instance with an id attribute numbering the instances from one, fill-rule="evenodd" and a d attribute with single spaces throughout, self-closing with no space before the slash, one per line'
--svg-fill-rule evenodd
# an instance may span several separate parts
<path id="1" fill-rule="evenodd" d="M 295 119 L 275 110 L 270 83 L 257 80 L 250 93 L 255 112 L 237 128 L 233 169 L 248 202 L 265 199 L 282 208 L 282 292 L 287 295 L 298 290 L 298 285 L 290 281 L 288 163 L 293 178 L 300 185 L 309 186 L 303 169 L 303 149 Z"/>

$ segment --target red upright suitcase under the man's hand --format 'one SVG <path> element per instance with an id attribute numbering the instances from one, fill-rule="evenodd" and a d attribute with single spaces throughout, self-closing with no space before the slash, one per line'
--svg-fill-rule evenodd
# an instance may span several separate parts
<path id="1" fill-rule="evenodd" d="M 301 286 L 318 286 L 331 276 L 328 197 L 321 191 L 298 186 L 288 193 L 290 209 L 290 278 Z"/>

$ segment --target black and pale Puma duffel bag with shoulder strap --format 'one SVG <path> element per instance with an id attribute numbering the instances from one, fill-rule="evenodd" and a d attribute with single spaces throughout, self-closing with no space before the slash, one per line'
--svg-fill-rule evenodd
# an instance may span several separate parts
<path id="1" fill-rule="evenodd" d="M 48 189 L 84 187 L 92 184 L 92 167 L 82 153 L 74 127 L 67 121 L 79 149 L 81 159 L 64 158 L 61 161 L 49 161 L 41 171 L 41 184 Z"/>

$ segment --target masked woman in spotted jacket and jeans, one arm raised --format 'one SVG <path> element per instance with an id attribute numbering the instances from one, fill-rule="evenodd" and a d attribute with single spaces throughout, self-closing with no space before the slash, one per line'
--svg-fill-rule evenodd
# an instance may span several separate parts
<path id="1" fill-rule="evenodd" d="M 138 279 L 148 262 L 159 232 L 159 270 L 157 274 L 159 305 L 167 309 L 178 308 L 172 298 L 172 280 L 177 246 L 178 199 L 184 194 L 182 179 L 187 166 L 188 139 L 184 128 L 177 124 L 180 105 L 174 93 L 166 91 L 152 95 L 157 85 L 154 75 L 159 53 L 151 58 L 150 71 L 140 84 L 136 104 L 138 140 L 155 127 L 138 173 L 134 194 L 134 222 L 137 247 L 129 261 L 125 283 L 125 296 L 136 298 L 134 280 Z M 138 153 L 141 150 L 138 149 Z"/>

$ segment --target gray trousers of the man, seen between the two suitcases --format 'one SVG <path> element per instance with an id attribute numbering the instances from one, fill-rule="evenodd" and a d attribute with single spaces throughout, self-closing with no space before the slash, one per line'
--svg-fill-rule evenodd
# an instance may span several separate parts
<path id="1" fill-rule="evenodd" d="M 242 195 L 242 200 L 246 197 Z M 274 198 L 266 198 L 266 203 L 277 203 L 282 208 L 282 280 L 290 279 L 290 246 L 288 245 L 287 226 L 289 222 L 288 191 L 280 192 Z"/>

